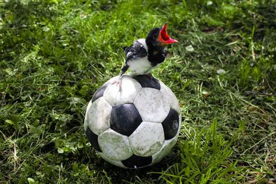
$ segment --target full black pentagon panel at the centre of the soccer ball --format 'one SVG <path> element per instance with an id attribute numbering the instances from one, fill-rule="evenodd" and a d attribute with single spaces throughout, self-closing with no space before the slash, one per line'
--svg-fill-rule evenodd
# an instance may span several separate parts
<path id="1" fill-rule="evenodd" d="M 141 122 L 141 116 L 132 103 L 116 105 L 112 108 L 110 127 L 120 134 L 130 136 Z"/>

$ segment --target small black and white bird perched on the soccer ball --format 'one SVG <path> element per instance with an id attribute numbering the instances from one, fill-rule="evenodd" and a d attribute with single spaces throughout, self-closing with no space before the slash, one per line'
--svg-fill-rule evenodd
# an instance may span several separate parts
<path id="1" fill-rule="evenodd" d="M 166 59 L 166 45 L 177 43 L 176 39 L 170 38 L 165 23 L 161 28 L 153 28 L 146 39 L 137 39 L 132 45 L 124 47 L 126 63 L 121 68 L 119 77 L 114 83 L 121 88 L 121 77 L 129 69 L 132 75 L 150 74 Z"/>

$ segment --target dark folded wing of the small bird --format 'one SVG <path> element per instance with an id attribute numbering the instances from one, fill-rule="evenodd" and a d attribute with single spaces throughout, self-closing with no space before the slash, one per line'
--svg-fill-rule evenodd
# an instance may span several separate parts
<path id="1" fill-rule="evenodd" d="M 146 57 L 148 55 L 146 48 L 144 48 L 144 45 L 139 41 L 134 41 L 134 43 L 129 47 L 124 47 L 124 51 L 126 53 L 126 62 L 132 59 Z"/>

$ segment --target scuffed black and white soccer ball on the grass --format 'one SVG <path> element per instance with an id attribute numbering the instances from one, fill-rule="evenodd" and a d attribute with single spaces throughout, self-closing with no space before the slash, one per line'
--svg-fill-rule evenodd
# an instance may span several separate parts
<path id="1" fill-rule="evenodd" d="M 177 142 L 181 113 L 175 94 L 153 76 L 114 77 L 88 103 L 84 128 L 104 160 L 123 168 L 153 165 Z"/>

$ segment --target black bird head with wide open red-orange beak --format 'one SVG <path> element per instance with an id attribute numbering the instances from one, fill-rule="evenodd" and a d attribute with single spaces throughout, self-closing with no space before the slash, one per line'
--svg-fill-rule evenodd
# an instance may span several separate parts
<path id="1" fill-rule="evenodd" d="M 165 47 L 166 45 L 178 42 L 176 39 L 172 39 L 168 36 L 166 31 L 167 24 L 168 23 L 165 23 L 162 28 L 154 28 L 148 33 L 146 37 L 147 45 L 152 44 L 157 47 Z"/>

